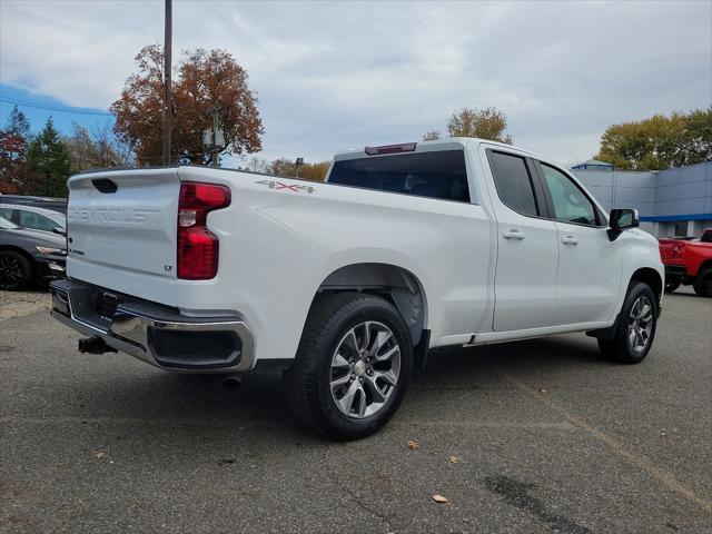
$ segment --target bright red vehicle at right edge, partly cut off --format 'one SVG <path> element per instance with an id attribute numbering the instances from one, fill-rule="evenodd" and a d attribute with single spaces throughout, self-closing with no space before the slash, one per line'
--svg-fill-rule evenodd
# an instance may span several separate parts
<path id="1" fill-rule="evenodd" d="M 705 228 L 699 239 L 660 239 L 660 257 L 665 264 L 666 291 L 684 284 L 702 297 L 712 297 L 712 228 Z"/>

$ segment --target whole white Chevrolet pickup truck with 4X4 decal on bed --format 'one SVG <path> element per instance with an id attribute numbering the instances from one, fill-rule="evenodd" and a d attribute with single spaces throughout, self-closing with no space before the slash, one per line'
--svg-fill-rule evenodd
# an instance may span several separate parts
<path id="1" fill-rule="evenodd" d="M 285 369 L 300 418 L 379 429 L 427 350 L 586 332 L 641 362 L 664 279 L 635 210 L 482 139 L 337 155 L 326 182 L 180 166 L 69 180 L 52 315 L 162 369 Z"/>

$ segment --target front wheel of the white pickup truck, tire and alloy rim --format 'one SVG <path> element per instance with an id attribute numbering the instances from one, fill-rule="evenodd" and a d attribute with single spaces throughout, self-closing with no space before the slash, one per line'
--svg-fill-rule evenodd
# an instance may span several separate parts
<path id="1" fill-rule="evenodd" d="M 640 364 L 653 345 L 656 327 L 655 295 L 647 284 L 634 281 L 629 287 L 613 338 L 599 339 L 601 354 L 612 362 Z"/>

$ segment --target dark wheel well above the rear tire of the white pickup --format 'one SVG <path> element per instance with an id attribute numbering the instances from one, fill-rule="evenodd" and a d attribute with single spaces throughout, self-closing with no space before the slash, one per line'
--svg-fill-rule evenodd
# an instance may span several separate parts
<path id="1" fill-rule="evenodd" d="M 393 303 L 408 325 L 413 344 L 419 343 L 426 327 L 427 304 L 423 286 L 415 275 L 389 264 L 348 265 L 327 276 L 317 295 L 350 290 L 378 295 Z"/>

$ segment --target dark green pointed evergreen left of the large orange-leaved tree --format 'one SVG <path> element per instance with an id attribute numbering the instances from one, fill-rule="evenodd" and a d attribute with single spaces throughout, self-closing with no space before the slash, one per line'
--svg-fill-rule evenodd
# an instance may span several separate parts
<path id="1" fill-rule="evenodd" d="M 67 179 L 71 175 L 69 151 L 55 129 L 51 117 L 27 150 L 29 194 L 49 197 L 67 196 Z"/>

